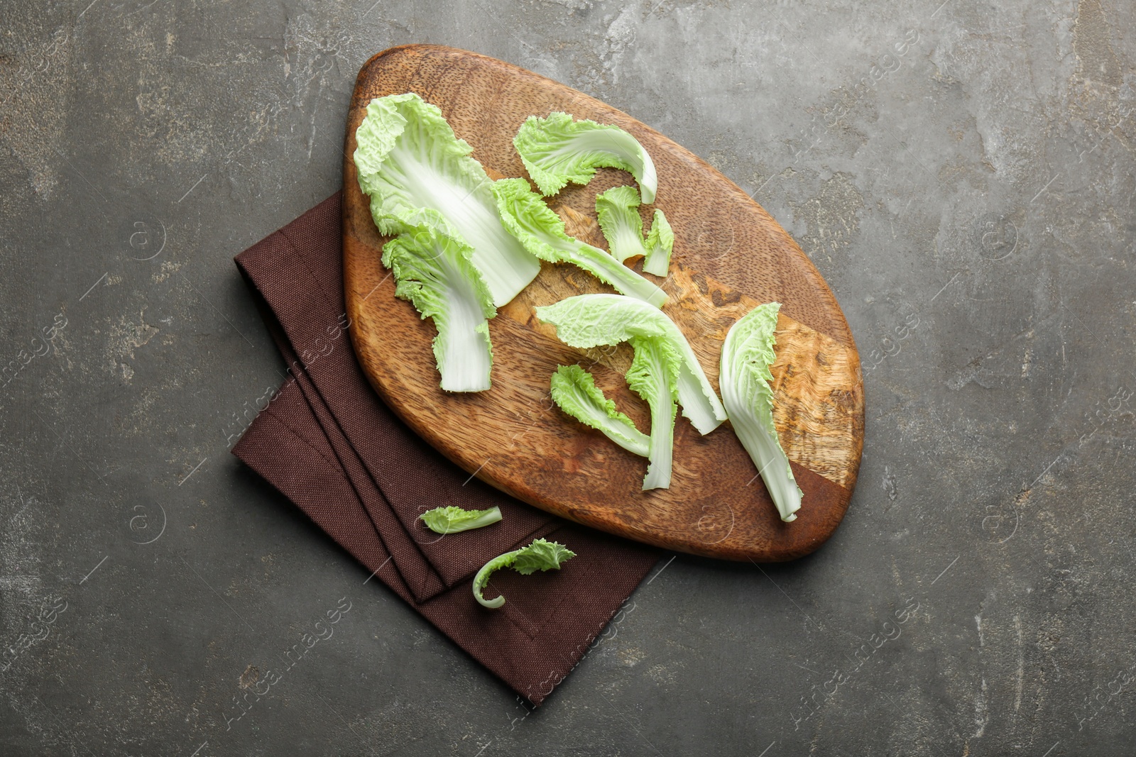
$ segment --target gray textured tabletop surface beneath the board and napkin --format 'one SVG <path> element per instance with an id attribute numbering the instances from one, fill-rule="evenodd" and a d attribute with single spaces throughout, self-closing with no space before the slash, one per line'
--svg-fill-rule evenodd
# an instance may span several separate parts
<path id="1" fill-rule="evenodd" d="M 5 2 L 0 752 L 1131 754 L 1136 10 L 941 2 Z M 231 259 L 407 42 L 705 157 L 866 363 L 832 541 L 660 564 L 531 714 L 228 454 L 283 370 Z"/>

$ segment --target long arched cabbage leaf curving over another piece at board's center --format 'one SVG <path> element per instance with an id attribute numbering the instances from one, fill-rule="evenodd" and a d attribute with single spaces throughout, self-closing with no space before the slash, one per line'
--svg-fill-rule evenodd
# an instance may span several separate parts
<path id="1" fill-rule="evenodd" d="M 678 367 L 678 404 L 700 434 L 726 420 L 726 410 L 702 371 L 682 330 L 661 310 L 618 294 L 580 294 L 536 309 L 536 317 L 557 327 L 557 337 L 570 347 L 587 350 L 628 342 L 632 337 L 660 338 L 682 358 Z"/>

